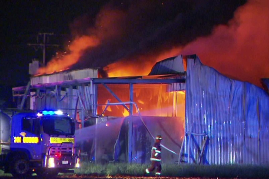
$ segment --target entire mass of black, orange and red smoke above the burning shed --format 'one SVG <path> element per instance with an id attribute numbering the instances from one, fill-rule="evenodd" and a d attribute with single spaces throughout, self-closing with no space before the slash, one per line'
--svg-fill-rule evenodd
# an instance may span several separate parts
<path id="1" fill-rule="evenodd" d="M 39 73 L 105 67 L 109 76 L 147 75 L 157 61 L 198 54 L 219 72 L 260 86 L 269 76 L 268 8 L 267 0 L 112 1 L 93 24 L 76 19 L 72 49 Z"/>

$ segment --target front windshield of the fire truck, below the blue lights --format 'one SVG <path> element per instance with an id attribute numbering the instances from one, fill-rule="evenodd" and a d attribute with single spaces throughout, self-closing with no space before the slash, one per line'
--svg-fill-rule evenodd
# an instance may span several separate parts
<path id="1" fill-rule="evenodd" d="M 46 134 L 49 135 L 74 135 L 75 122 L 69 117 L 63 116 L 44 116 L 42 126 Z"/>

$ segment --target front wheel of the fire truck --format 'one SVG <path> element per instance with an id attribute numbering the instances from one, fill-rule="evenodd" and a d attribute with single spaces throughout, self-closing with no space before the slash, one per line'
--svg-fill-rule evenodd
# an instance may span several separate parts
<path id="1" fill-rule="evenodd" d="M 13 177 L 29 175 L 29 162 L 25 159 L 18 158 L 12 162 Z"/>

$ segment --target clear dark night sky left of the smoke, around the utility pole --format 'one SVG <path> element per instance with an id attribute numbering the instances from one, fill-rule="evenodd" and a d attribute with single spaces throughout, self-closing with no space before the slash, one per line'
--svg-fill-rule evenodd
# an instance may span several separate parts
<path id="1" fill-rule="evenodd" d="M 54 33 L 52 44 L 68 40 L 70 25 L 81 16 L 94 21 L 106 1 L 5 1 L 1 3 L 1 85 L 25 84 L 28 64 L 33 58 L 42 60 L 42 50 L 28 43 L 37 43 L 38 33 Z M 42 38 L 40 39 L 42 42 Z M 48 58 L 57 48 L 48 49 Z"/>

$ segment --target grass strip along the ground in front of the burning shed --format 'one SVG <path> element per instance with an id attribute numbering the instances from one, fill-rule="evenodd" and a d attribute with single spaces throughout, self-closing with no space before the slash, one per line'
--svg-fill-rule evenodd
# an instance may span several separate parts
<path id="1" fill-rule="evenodd" d="M 131 175 L 143 176 L 149 164 L 109 163 L 105 165 L 82 163 L 76 169 L 79 175 L 117 176 Z M 154 176 L 154 172 L 148 176 Z M 189 165 L 189 164 L 163 164 L 161 176 L 167 177 L 210 177 L 210 178 L 269 178 L 269 166 L 247 165 Z"/>

